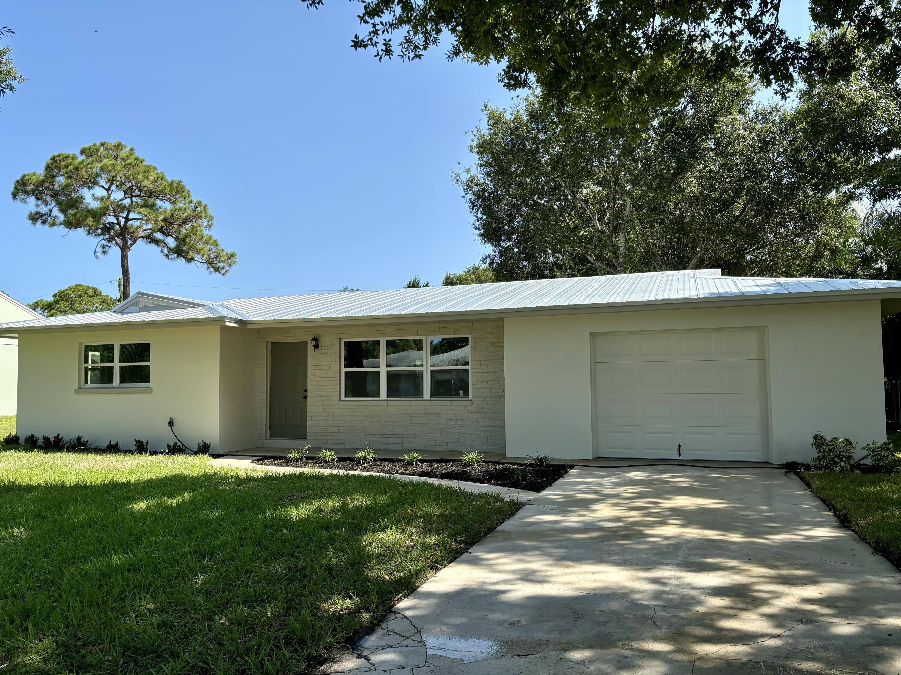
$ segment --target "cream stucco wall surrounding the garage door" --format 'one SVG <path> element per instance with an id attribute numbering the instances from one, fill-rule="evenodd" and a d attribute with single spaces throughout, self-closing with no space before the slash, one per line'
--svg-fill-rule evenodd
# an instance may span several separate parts
<path id="1" fill-rule="evenodd" d="M 810 459 L 811 433 L 886 437 L 879 301 L 506 319 L 507 455 L 592 455 L 591 336 L 766 329 L 771 461 Z"/>

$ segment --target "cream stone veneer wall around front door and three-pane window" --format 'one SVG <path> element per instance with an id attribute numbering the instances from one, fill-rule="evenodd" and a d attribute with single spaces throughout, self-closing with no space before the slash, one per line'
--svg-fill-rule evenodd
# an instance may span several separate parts
<path id="1" fill-rule="evenodd" d="M 319 338 L 313 353 L 309 340 Z M 340 401 L 341 338 L 471 336 L 471 401 Z M 268 436 L 268 343 L 307 342 L 307 443 L 374 449 L 505 452 L 504 321 L 259 329 L 258 437 Z"/>

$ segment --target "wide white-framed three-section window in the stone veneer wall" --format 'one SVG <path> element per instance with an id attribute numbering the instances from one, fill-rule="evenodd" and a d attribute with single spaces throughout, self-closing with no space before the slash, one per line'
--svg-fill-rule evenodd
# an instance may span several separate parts
<path id="1" fill-rule="evenodd" d="M 469 338 L 341 341 L 341 398 L 469 399 Z"/>

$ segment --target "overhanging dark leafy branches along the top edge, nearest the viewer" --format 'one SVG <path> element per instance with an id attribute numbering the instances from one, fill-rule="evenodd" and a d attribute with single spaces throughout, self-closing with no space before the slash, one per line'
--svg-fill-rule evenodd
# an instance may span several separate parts
<path id="1" fill-rule="evenodd" d="M 359 2 L 353 49 L 417 59 L 447 32 L 448 58 L 500 64 L 508 89 L 537 86 L 558 108 L 594 103 L 608 121 L 637 103 L 674 104 L 689 83 L 717 85 L 736 69 L 787 94 L 799 80 L 846 78 L 858 53 L 879 52 L 878 70 L 891 78 L 901 65 L 897 0 L 809 0 L 820 40 L 788 33 L 781 0 Z"/>

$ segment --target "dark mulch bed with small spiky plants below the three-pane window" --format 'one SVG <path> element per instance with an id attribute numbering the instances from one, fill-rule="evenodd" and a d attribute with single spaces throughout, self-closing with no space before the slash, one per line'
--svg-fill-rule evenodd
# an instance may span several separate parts
<path id="1" fill-rule="evenodd" d="M 528 476 L 521 475 L 522 465 L 504 464 L 501 462 L 481 462 L 475 466 L 463 464 L 450 459 L 423 460 L 421 464 L 404 464 L 398 459 L 381 459 L 372 464 L 358 464 L 353 457 L 339 457 L 334 464 L 317 463 L 312 458 L 300 462 L 291 462 L 281 457 L 265 457 L 254 464 L 268 466 L 292 466 L 295 468 L 316 467 L 320 469 L 341 469 L 341 471 L 359 471 L 371 473 L 402 473 L 405 476 L 425 476 L 427 478 L 443 478 L 449 481 L 480 482 L 487 485 L 500 485 L 504 488 L 517 488 L 541 492 L 550 487 L 561 476 L 569 471 L 563 464 L 530 467 Z"/>

